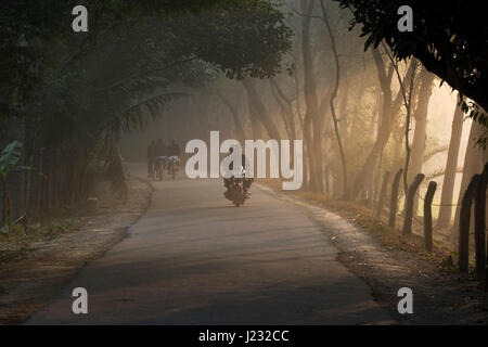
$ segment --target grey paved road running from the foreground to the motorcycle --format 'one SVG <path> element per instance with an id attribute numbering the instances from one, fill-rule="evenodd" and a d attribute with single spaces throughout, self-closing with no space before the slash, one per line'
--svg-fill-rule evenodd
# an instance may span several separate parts
<path id="1" fill-rule="evenodd" d="M 390 321 L 296 206 L 217 180 L 155 184 L 129 235 L 88 264 L 28 324 L 363 324 Z M 72 312 L 73 288 L 89 294 Z"/>

